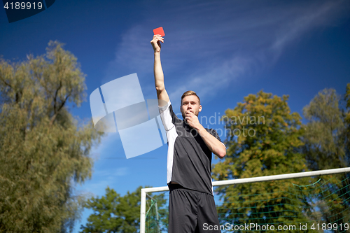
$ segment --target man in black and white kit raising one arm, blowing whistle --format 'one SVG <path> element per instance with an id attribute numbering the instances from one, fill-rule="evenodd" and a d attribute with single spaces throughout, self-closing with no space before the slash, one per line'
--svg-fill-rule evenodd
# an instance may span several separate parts
<path id="1" fill-rule="evenodd" d="M 197 116 L 202 106 L 195 92 L 183 94 L 183 120 L 176 117 L 165 90 L 160 42 L 164 43 L 164 38 L 153 36 L 155 89 L 168 139 L 168 232 L 221 232 L 217 230 L 220 226 L 211 183 L 211 153 L 223 158 L 226 148 L 215 129 L 204 129 L 200 124 Z"/>

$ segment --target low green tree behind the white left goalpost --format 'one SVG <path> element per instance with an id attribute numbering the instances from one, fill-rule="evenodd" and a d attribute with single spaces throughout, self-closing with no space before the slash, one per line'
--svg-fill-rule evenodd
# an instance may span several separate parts
<path id="1" fill-rule="evenodd" d="M 81 226 L 83 232 L 109 232 L 109 233 L 135 233 L 139 232 L 141 188 L 134 192 L 127 192 L 121 197 L 115 190 L 106 188 L 106 195 L 92 197 L 85 207 L 92 209 L 94 213 L 87 218 L 86 226 Z M 153 195 L 157 200 L 159 226 L 167 224 L 167 210 L 165 207 L 164 194 Z"/>

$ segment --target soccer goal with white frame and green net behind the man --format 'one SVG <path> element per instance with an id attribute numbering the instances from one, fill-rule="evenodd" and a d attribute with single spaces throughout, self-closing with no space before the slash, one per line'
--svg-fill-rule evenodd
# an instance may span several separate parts
<path id="1" fill-rule="evenodd" d="M 345 168 L 215 181 L 216 227 L 221 232 L 350 232 L 349 178 Z M 141 191 L 141 233 L 167 232 L 168 197 L 167 187 Z"/>

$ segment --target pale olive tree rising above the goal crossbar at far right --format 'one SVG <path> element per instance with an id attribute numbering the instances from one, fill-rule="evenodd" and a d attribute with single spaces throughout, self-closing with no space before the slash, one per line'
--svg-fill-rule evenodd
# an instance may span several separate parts
<path id="1" fill-rule="evenodd" d="M 325 89 L 303 108 L 309 121 L 303 136 L 303 153 L 311 170 L 346 167 L 344 116 L 339 100 L 334 89 Z"/>

